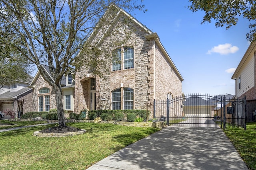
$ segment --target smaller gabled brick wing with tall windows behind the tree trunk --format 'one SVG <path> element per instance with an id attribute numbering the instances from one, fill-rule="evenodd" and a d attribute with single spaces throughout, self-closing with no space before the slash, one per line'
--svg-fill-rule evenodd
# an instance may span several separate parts
<path id="1" fill-rule="evenodd" d="M 50 75 L 49 67 L 44 65 L 44 69 Z M 63 95 L 63 107 L 68 112 L 74 112 L 74 89 L 75 81 L 71 73 L 62 77 L 62 95 Z M 55 92 L 44 80 L 40 72 L 36 72 L 34 79 L 30 83 L 30 87 L 33 89 L 33 96 L 31 98 L 31 111 L 49 111 L 56 108 Z"/>

